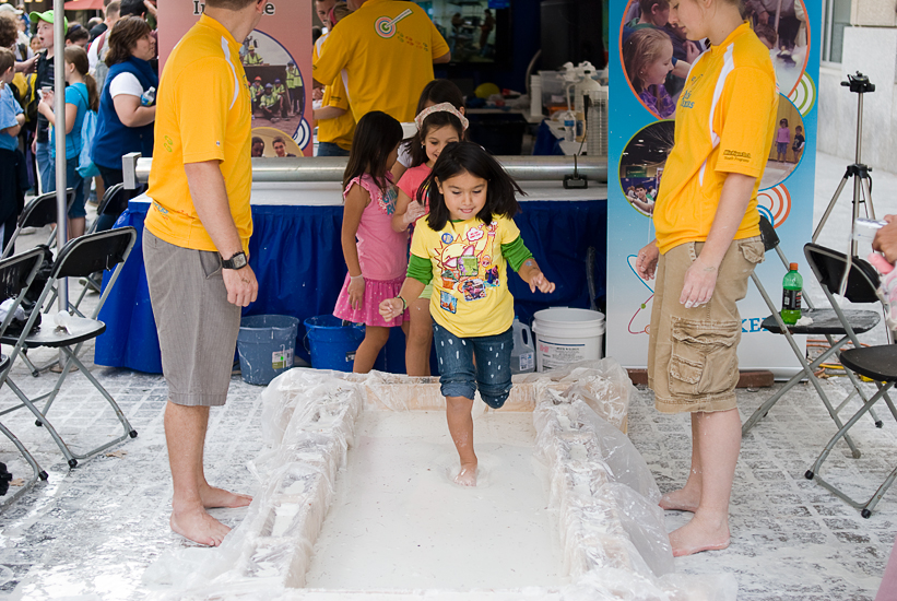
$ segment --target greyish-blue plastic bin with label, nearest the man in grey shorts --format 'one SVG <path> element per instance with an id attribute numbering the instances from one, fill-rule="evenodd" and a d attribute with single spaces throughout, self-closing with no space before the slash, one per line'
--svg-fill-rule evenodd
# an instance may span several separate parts
<path id="1" fill-rule="evenodd" d="M 237 353 L 244 381 L 267 386 L 293 367 L 299 320 L 286 315 L 253 315 L 240 320 Z"/>

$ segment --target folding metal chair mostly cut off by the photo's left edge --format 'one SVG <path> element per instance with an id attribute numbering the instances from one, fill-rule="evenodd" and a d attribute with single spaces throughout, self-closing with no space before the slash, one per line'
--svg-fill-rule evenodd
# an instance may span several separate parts
<path id="1" fill-rule="evenodd" d="M 46 250 L 43 248 L 34 248 L 21 255 L 0 260 L 0 300 L 13 299 L 12 306 L 9 308 L 3 322 L 0 323 L 0 333 L 5 332 L 9 325 L 12 322 L 15 310 L 22 304 L 22 299 L 27 292 L 28 286 L 34 281 L 37 270 L 44 260 Z M 0 373 L 5 374 L 12 366 L 12 361 L 5 355 L 0 355 Z M 8 411 L 0 412 L 4 415 Z M 7 496 L 0 504 L 0 509 L 4 509 L 15 499 L 25 494 L 38 480 L 47 480 L 47 472 L 45 472 L 37 461 L 34 459 L 28 449 L 15 437 L 15 435 L 0 422 L 0 433 L 7 436 L 19 452 L 27 461 L 32 468 L 32 476 L 24 486 L 19 488 L 12 495 Z"/>

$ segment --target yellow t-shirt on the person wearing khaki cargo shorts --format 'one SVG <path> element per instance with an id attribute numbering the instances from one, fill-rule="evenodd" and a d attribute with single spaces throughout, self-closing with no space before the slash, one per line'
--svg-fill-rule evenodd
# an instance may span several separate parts
<path id="1" fill-rule="evenodd" d="M 735 239 L 759 236 L 757 189 L 778 106 L 769 50 L 747 23 L 695 61 L 680 96 L 675 145 L 654 204 L 661 252 L 707 239 L 730 173 L 757 178 Z"/>

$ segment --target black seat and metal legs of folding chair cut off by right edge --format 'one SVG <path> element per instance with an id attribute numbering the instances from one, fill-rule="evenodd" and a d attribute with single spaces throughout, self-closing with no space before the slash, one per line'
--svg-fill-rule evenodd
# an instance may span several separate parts
<path id="1" fill-rule="evenodd" d="M 863 406 L 853 414 L 853 416 L 848 420 L 848 422 L 841 426 L 838 433 L 831 437 L 831 440 L 823 449 L 823 452 L 819 455 L 816 462 L 813 463 L 813 467 L 810 468 L 804 476 L 807 480 L 815 480 L 824 487 L 831 491 L 835 495 L 843 499 L 848 503 L 851 507 L 860 509 L 860 515 L 864 518 L 869 518 L 872 516 L 872 510 L 882 499 L 885 492 L 887 492 L 890 484 L 894 482 L 894 479 L 897 478 L 897 468 L 892 470 L 885 481 L 878 486 L 878 490 L 875 491 L 875 494 L 872 495 L 872 498 L 863 502 L 853 500 L 849 495 L 843 493 L 842 491 L 838 490 L 835 485 L 826 482 L 819 475 L 819 470 L 823 467 L 823 462 L 825 462 L 828 455 L 835 448 L 835 445 L 840 440 L 842 437 L 847 436 L 847 431 L 849 431 L 853 424 L 855 424 L 860 417 L 863 416 L 868 411 L 872 410 L 872 405 L 878 402 L 881 399 L 885 400 L 887 403 L 888 410 L 890 410 L 890 414 L 897 420 L 897 409 L 895 409 L 894 403 L 888 398 L 888 390 L 890 390 L 895 382 L 897 382 L 897 344 L 887 344 L 884 346 L 866 346 L 866 347 L 859 347 L 859 349 L 850 349 L 841 353 L 841 365 L 860 374 L 861 376 L 865 376 L 874 380 L 878 384 L 878 391 L 871 398 L 868 399 Z"/>

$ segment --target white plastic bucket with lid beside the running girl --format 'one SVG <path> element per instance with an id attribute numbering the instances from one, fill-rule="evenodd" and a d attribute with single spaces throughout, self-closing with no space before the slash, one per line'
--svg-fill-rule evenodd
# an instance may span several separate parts
<path id="1" fill-rule="evenodd" d="M 604 357 L 604 314 L 559 307 L 533 315 L 536 372 Z"/>

